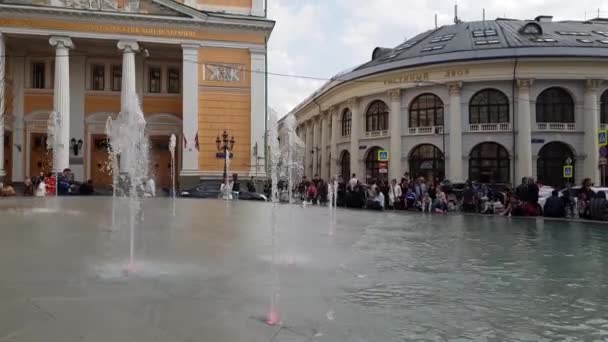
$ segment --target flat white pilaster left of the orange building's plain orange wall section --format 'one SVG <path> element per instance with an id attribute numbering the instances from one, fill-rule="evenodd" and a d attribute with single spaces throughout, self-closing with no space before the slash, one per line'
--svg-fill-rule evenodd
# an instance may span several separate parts
<path id="1" fill-rule="evenodd" d="M 182 45 L 182 141 L 186 146 L 182 153 L 181 176 L 194 176 L 198 172 L 198 151 L 194 137 L 198 133 L 198 46 Z"/>

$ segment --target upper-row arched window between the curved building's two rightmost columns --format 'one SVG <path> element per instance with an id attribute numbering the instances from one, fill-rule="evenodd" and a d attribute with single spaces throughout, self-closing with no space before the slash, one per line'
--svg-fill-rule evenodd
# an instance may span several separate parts
<path id="1" fill-rule="evenodd" d="M 549 88 L 536 99 L 536 122 L 574 122 L 574 101 L 562 88 Z"/>

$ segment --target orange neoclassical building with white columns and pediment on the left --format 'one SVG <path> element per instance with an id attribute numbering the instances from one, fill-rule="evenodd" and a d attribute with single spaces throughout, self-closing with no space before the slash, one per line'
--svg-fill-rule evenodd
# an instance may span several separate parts
<path id="1" fill-rule="evenodd" d="M 69 167 L 79 181 L 111 184 L 105 122 L 133 96 L 158 184 L 169 183 L 171 134 L 184 186 L 221 177 L 224 130 L 236 140 L 232 170 L 264 175 L 273 27 L 263 0 L 0 0 L 0 178 Z M 46 148 L 51 112 L 59 159 Z"/>

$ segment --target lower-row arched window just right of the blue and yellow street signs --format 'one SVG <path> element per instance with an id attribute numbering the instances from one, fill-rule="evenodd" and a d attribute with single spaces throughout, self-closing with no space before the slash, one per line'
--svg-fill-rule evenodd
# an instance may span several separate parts
<path id="1" fill-rule="evenodd" d="M 427 180 L 445 177 L 445 160 L 443 153 L 435 145 L 416 146 L 409 157 L 410 175 L 413 178 L 424 177 Z"/>

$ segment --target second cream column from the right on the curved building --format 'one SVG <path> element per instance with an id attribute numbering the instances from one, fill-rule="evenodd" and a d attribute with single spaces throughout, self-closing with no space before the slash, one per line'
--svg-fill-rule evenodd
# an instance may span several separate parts
<path id="1" fill-rule="evenodd" d="M 513 184 L 523 177 L 532 177 L 532 119 L 530 112 L 530 86 L 532 80 L 517 80 L 517 139 L 515 141 L 516 171 Z"/>

